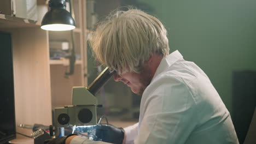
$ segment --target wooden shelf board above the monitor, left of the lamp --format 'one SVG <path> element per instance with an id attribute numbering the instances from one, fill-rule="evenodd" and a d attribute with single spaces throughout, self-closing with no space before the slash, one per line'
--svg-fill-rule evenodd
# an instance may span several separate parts
<path id="1" fill-rule="evenodd" d="M 40 27 L 40 23 L 34 20 L 22 19 L 9 15 L 0 14 L 1 28 Z"/>

